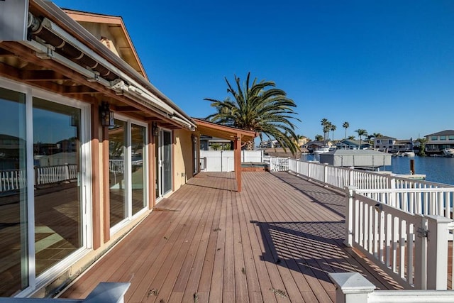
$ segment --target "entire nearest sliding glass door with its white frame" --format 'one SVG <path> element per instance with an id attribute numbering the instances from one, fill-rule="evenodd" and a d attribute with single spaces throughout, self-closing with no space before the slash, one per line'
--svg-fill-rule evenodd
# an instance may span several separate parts
<path id="1" fill-rule="evenodd" d="M 0 297 L 91 247 L 89 106 L 62 99 L 0 80 Z"/>

